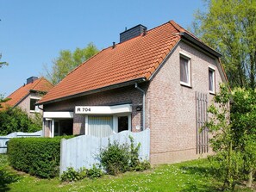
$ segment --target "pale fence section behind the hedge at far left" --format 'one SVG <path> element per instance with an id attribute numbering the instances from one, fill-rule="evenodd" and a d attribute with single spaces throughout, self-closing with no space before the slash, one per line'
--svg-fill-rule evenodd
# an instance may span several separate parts
<path id="1" fill-rule="evenodd" d="M 0 153 L 7 152 L 7 144 L 9 139 L 21 138 L 21 137 L 41 137 L 41 136 L 42 136 L 42 130 L 34 133 L 14 132 L 14 133 L 9 133 L 8 135 L 5 135 L 5 136 L 0 136 Z"/>

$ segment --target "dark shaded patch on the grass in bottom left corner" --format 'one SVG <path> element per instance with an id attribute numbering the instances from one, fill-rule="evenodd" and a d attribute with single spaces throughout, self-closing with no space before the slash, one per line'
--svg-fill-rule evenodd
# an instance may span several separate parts
<path id="1" fill-rule="evenodd" d="M 0 167 L 0 191 L 8 191 L 8 184 L 15 183 L 18 180 L 18 175 L 10 173 L 8 170 Z"/>

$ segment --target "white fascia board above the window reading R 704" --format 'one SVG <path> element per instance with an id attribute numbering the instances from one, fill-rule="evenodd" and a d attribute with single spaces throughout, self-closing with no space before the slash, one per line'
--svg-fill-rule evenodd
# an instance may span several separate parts
<path id="1" fill-rule="evenodd" d="M 132 106 L 130 104 L 115 105 L 115 106 L 76 106 L 76 114 L 91 114 L 91 115 L 105 115 L 105 114 L 122 114 L 131 113 Z"/>

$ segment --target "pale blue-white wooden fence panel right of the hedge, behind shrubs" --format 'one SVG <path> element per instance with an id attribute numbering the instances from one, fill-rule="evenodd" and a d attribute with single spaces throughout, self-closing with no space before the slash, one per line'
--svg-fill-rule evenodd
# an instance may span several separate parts
<path id="1" fill-rule="evenodd" d="M 97 138 L 91 135 L 82 135 L 72 139 L 61 139 L 60 146 L 60 175 L 68 167 L 75 170 L 85 167 L 90 169 L 93 164 L 100 163 L 98 155 L 100 150 L 107 147 L 109 142 L 116 140 L 119 144 L 128 143 L 130 145 L 129 135 L 134 138 L 134 145 L 140 143 L 139 157 L 142 160 L 149 160 L 150 152 L 150 130 L 147 128 L 140 133 L 123 131 L 105 138 Z"/>

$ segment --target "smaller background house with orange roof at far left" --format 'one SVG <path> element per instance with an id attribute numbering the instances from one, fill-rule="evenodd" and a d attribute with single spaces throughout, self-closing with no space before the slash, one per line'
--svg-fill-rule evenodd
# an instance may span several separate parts
<path id="1" fill-rule="evenodd" d="M 3 108 L 20 107 L 28 113 L 28 115 L 34 115 L 34 113 L 41 113 L 42 106 L 36 106 L 42 96 L 46 95 L 49 90 L 53 88 L 53 84 L 47 81 L 46 78 L 41 77 L 29 77 L 27 84 L 23 84 L 18 90 L 7 96 L 8 102 L 4 102 Z"/>

